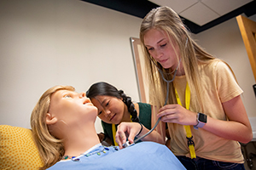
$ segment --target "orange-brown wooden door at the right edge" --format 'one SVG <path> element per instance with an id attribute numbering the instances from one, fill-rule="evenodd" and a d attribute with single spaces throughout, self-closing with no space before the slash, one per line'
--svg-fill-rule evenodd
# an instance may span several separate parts
<path id="1" fill-rule="evenodd" d="M 241 37 L 247 49 L 247 55 L 250 60 L 254 79 L 256 81 L 256 22 L 239 15 L 236 17 Z"/>

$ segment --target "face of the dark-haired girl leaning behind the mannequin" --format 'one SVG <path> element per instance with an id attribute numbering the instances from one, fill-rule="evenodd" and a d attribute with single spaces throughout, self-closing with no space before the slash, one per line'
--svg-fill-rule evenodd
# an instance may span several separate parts
<path id="1" fill-rule="evenodd" d="M 98 116 L 103 122 L 119 124 L 122 121 L 125 114 L 122 99 L 103 95 L 91 99 L 91 102 L 98 108 Z"/>

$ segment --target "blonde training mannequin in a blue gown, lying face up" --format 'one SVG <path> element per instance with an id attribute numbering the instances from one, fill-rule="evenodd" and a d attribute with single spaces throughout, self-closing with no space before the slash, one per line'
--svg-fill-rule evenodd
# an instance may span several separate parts
<path id="1" fill-rule="evenodd" d="M 31 116 L 43 168 L 185 169 L 163 144 L 141 142 L 123 150 L 103 146 L 95 129 L 96 116 L 97 108 L 85 93 L 70 86 L 49 88 Z"/>

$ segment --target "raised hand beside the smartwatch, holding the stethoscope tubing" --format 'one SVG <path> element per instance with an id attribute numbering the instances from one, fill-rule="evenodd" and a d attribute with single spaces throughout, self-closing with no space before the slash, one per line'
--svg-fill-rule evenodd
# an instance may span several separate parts
<path id="1" fill-rule="evenodd" d="M 162 122 L 174 122 L 181 125 L 196 125 L 197 113 L 186 110 L 181 105 L 165 105 L 160 108 L 158 117 Z"/>

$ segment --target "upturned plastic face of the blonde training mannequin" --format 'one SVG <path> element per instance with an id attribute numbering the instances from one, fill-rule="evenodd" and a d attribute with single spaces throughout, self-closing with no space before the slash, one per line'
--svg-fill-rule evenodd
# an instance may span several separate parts
<path id="1" fill-rule="evenodd" d="M 59 90 L 51 95 L 46 123 L 55 125 L 54 129 L 58 128 L 64 131 L 65 128 L 72 128 L 80 123 L 94 124 L 96 116 L 97 108 L 92 105 L 85 93 L 78 94 L 73 91 Z"/>

